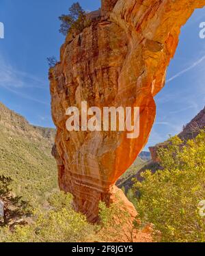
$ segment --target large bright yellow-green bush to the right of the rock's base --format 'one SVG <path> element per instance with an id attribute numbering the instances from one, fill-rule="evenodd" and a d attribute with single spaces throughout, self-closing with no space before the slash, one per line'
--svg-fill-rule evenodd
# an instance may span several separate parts
<path id="1" fill-rule="evenodd" d="M 159 158 L 163 170 L 146 171 L 134 185 L 141 220 L 154 224 L 162 242 L 205 242 L 205 217 L 198 209 L 205 199 L 205 131 L 184 146 L 171 138 Z"/>

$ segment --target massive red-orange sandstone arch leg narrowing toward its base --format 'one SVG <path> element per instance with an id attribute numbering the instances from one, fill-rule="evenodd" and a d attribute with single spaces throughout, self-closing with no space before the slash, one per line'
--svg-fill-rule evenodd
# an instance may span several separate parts
<path id="1" fill-rule="evenodd" d="M 180 27 L 204 5 L 205 0 L 102 0 L 92 25 L 66 37 L 49 74 L 57 127 L 53 155 L 61 190 L 73 194 L 75 209 L 91 222 L 98 219 L 100 200 L 113 201 L 115 181 L 148 141 L 153 97 L 165 85 Z M 68 132 L 66 109 L 81 110 L 81 101 L 88 107 L 140 107 L 139 138 L 126 138 L 126 131 Z"/>

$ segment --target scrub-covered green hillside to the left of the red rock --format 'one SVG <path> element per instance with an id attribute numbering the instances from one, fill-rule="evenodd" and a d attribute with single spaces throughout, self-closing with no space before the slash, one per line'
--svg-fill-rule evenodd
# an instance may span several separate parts
<path id="1" fill-rule="evenodd" d="M 55 129 L 29 125 L 0 103 L 0 175 L 14 180 L 14 192 L 44 201 L 57 190 L 57 168 L 51 156 Z"/>

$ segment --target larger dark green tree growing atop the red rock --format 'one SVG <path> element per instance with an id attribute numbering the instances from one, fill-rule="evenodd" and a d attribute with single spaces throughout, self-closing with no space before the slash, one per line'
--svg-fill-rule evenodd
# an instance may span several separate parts
<path id="1" fill-rule="evenodd" d="M 79 2 L 73 3 L 69 8 L 68 14 L 59 16 L 61 21 L 59 32 L 66 36 L 68 31 L 74 30 L 78 34 L 90 25 L 90 20 L 86 16 L 86 12 L 81 8 Z"/>

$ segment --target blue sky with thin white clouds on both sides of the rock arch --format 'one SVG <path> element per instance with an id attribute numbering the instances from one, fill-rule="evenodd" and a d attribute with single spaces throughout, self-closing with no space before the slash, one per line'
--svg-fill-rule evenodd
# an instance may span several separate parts
<path id="1" fill-rule="evenodd" d="M 0 101 L 22 114 L 30 123 L 53 127 L 46 57 L 59 57 L 64 36 L 58 16 L 71 0 L 0 0 Z M 85 10 L 96 10 L 100 1 L 79 1 Z M 167 84 L 156 96 L 156 123 L 148 146 L 180 132 L 205 102 L 205 39 L 200 23 L 205 9 L 196 10 L 182 28 L 178 50 L 167 72 Z"/>

